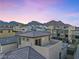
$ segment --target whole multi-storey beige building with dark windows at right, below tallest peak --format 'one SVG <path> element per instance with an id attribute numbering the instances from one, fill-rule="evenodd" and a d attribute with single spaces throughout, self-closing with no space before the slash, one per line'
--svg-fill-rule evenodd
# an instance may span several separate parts
<path id="1" fill-rule="evenodd" d="M 74 38 L 73 31 L 75 30 L 75 26 L 67 26 L 67 25 L 48 25 L 48 31 L 51 33 L 51 37 L 53 39 L 63 40 L 69 43 L 72 43 Z"/>

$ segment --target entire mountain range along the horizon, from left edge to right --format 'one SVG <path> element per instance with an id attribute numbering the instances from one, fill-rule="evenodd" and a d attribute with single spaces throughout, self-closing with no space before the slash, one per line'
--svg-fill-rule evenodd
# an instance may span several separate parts
<path id="1" fill-rule="evenodd" d="M 11 22 L 0 21 L 0 25 L 13 25 L 13 26 L 16 26 L 16 25 L 25 25 L 25 24 L 19 23 L 19 22 L 16 22 L 16 21 L 11 21 Z M 55 20 L 49 21 L 49 22 L 47 22 L 47 23 L 40 23 L 40 22 L 37 22 L 37 21 L 31 21 L 31 22 L 29 22 L 29 23 L 26 24 L 26 25 L 70 26 L 70 24 L 65 24 L 65 23 L 63 23 L 62 21 L 55 21 Z"/>

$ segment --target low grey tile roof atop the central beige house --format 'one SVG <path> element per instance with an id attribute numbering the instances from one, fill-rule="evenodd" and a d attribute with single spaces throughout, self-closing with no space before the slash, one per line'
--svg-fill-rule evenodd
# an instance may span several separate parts
<path id="1" fill-rule="evenodd" d="M 46 31 L 29 31 L 24 33 L 17 33 L 16 35 L 26 36 L 26 37 L 40 37 L 40 36 L 50 35 L 50 33 Z"/>

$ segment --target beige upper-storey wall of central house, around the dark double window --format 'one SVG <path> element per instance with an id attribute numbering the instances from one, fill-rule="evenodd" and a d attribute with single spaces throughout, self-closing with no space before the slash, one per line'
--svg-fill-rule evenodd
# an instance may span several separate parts
<path id="1" fill-rule="evenodd" d="M 19 46 L 24 47 L 24 46 L 35 45 L 35 40 L 38 40 L 38 39 L 41 39 L 41 45 L 46 45 L 49 43 L 49 38 L 50 38 L 49 36 L 36 37 L 36 38 L 20 37 L 21 45 Z"/>

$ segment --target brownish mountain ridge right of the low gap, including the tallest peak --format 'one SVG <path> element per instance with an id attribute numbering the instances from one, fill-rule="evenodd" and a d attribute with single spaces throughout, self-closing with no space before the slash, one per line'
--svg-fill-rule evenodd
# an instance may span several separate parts
<path id="1" fill-rule="evenodd" d="M 70 24 L 65 24 L 62 21 L 55 21 L 55 20 L 49 21 L 47 23 L 40 23 L 37 21 L 31 21 L 27 25 L 45 25 L 45 26 L 53 25 L 53 26 L 65 26 L 65 27 L 71 26 Z"/>

